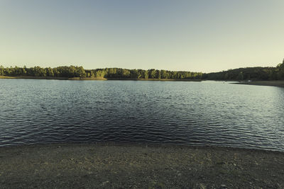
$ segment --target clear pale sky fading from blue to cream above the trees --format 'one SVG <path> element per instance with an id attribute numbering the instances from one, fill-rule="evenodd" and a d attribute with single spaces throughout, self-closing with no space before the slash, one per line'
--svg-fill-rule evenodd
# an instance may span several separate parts
<path id="1" fill-rule="evenodd" d="M 275 67 L 283 10 L 283 0 L 0 0 L 0 65 Z"/>

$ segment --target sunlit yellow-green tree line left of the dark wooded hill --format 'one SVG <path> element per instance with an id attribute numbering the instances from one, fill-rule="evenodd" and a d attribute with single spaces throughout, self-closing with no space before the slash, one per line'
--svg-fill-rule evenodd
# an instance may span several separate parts
<path id="1" fill-rule="evenodd" d="M 105 79 L 202 79 L 201 72 L 159 69 L 84 69 L 83 67 L 6 67 L 0 66 L 0 76 L 87 77 Z"/>

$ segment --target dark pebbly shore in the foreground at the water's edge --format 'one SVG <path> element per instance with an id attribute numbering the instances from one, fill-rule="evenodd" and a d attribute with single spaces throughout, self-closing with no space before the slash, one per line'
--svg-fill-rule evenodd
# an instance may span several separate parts
<path id="1" fill-rule="evenodd" d="M 0 188 L 284 188 L 284 153 L 116 144 L 0 148 Z"/>

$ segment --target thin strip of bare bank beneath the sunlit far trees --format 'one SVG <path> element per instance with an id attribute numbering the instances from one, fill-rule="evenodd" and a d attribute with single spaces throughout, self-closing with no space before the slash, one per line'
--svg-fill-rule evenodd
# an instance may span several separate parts
<path id="1" fill-rule="evenodd" d="M 0 79 L 55 79 L 55 80 L 73 80 L 73 81 L 204 81 L 202 79 L 131 79 L 131 78 L 96 78 L 96 77 L 55 77 L 55 76 L 0 76 Z"/>

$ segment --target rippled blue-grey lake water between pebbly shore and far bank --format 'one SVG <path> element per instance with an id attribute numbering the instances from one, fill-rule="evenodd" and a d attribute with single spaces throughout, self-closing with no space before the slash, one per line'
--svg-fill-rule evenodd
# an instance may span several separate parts
<path id="1" fill-rule="evenodd" d="M 118 142 L 284 151 L 278 87 L 0 79 L 0 105 L 0 146 Z"/>

